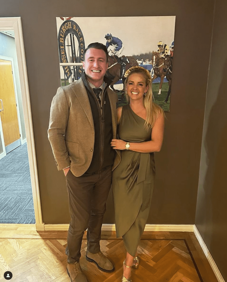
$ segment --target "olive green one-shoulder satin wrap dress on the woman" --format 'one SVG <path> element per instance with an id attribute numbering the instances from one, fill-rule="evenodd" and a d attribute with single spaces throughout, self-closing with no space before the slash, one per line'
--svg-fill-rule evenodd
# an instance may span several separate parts
<path id="1" fill-rule="evenodd" d="M 151 140 L 151 129 L 129 104 L 123 106 L 119 121 L 119 139 L 126 142 Z M 135 256 L 144 231 L 153 192 L 154 153 L 121 150 L 121 162 L 113 171 L 113 196 L 117 237 L 123 237 L 128 253 Z"/>

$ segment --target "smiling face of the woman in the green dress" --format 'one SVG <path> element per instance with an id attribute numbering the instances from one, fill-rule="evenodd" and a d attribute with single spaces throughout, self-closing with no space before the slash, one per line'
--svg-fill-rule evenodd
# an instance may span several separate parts
<path id="1" fill-rule="evenodd" d="M 132 73 L 128 76 L 126 91 L 130 100 L 143 101 L 143 93 L 147 93 L 148 85 L 142 73 Z"/>

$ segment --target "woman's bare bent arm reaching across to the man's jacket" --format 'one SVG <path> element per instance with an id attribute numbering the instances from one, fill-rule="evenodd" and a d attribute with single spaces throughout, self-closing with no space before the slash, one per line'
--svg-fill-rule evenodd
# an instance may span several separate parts
<path id="1" fill-rule="evenodd" d="M 159 152 L 162 147 L 164 134 L 164 115 L 159 116 L 154 126 L 152 127 L 151 141 L 145 142 L 130 142 L 129 150 L 140 153 Z M 126 142 L 119 139 L 112 139 L 111 146 L 114 149 L 125 150 Z"/>

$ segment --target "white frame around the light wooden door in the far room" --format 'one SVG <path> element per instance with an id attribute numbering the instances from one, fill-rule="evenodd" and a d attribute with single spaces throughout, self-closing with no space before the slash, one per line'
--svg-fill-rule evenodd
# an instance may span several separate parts
<path id="1" fill-rule="evenodd" d="M 13 86 L 14 86 L 14 92 L 15 92 L 15 99 L 16 99 L 16 103 L 17 103 L 17 120 L 18 120 L 18 125 L 19 125 L 20 140 L 21 140 L 21 144 L 23 144 L 23 143 L 26 142 L 26 140 L 24 142 L 22 142 L 21 118 L 20 118 L 20 109 L 19 109 L 18 96 L 17 96 L 17 87 L 16 87 L 13 58 L 0 55 L 0 59 L 5 60 L 5 61 L 10 61 L 11 65 L 12 65 L 12 77 L 13 77 L 13 84 L 14 84 Z M 4 106 L 4 104 L 3 104 L 3 106 Z M 1 122 L 1 115 L 0 115 L 0 122 Z M 3 132 L 1 132 L 1 131 L 2 131 L 2 126 L 0 126 L 0 134 L 1 134 L 1 139 L 2 139 Z M 4 139 L 2 140 L 2 149 L 3 149 L 3 152 L 0 154 L 0 159 L 2 157 L 6 156 L 6 148 L 5 148 Z"/>

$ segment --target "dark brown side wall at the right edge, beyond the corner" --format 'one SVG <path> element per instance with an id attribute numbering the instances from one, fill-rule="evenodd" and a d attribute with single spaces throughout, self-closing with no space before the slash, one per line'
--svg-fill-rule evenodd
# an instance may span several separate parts
<path id="1" fill-rule="evenodd" d="M 227 3 L 215 4 L 214 30 L 205 107 L 196 226 L 227 281 Z"/>

